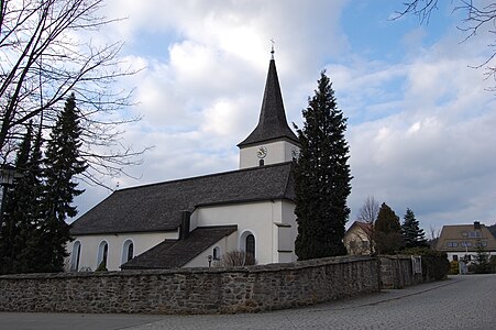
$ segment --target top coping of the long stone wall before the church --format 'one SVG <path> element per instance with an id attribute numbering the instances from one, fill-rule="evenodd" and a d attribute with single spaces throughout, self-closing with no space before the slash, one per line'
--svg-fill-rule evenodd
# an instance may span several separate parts
<path id="1" fill-rule="evenodd" d="M 220 274 L 220 273 L 272 273 L 280 271 L 297 271 L 315 268 L 323 265 L 357 263 L 376 260 L 371 256 L 332 256 L 318 260 L 297 261 L 291 263 L 266 264 L 236 267 L 191 267 L 172 270 L 136 270 L 117 272 L 69 272 L 69 273 L 35 273 L 1 275 L 0 279 L 51 279 L 51 278 L 78 278 L 78 277 L 125 277 L 125 276 L 157 276 L 157 275 L 194 275 L 194 274 Z"/>

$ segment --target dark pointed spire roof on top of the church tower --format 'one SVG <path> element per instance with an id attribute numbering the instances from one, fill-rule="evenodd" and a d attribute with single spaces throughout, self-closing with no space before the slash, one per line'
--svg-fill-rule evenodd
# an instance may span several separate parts
<path id="1" fill-rule="evenodd" d="M 255 130 L 240 144 L 239 147 L 261 143 L 269 140 L 290 140 L 299 144 L 298 138 L 288 127 L 280 94 L 274 58 L 268 65 L 267 80 L 265 82 L 264 99 L 260 112 L 258 124 Z"/>

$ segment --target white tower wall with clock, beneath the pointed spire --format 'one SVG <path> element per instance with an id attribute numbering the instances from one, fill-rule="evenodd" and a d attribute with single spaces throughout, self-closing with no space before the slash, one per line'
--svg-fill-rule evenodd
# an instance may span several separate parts
<path id="1" fill-rule="evenodd" d="M 278 164 L 289 162 L 293 160 L 294 150 L 299 148 L 287 141 L 276 141 L 266 144 L 257 144 L 240 150 L 240 168 L 249 168 L 260 166 L 260 157 L 257 156 L 258 148 L 263 146 L 267 150 L 264 160 L 264 165 Z"/>

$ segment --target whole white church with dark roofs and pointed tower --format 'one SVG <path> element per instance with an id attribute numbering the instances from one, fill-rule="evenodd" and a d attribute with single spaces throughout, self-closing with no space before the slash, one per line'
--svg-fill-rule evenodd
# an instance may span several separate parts
<path id="1" fill-rule="evenodd" d="M 296 261 L 289 128 L 274 51 L 258 124 L 238 144 L 240 168 L 131 187 L 71 224 L 70 271 L 207 267 L 241 250 L 258 264 Z"/>

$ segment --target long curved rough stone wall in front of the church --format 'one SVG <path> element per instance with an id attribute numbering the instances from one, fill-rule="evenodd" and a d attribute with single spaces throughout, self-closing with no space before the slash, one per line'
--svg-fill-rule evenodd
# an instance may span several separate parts
<path id="1" fill-rule="evenodd" d="M 379 290 L 378 260 L 235 268 L 0 276 L 0 311 L 217 314 L 311 305 Z"/>

